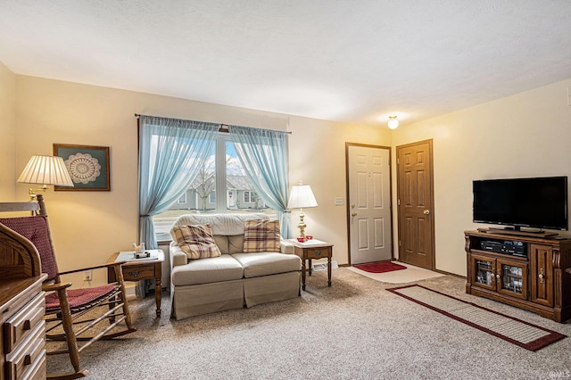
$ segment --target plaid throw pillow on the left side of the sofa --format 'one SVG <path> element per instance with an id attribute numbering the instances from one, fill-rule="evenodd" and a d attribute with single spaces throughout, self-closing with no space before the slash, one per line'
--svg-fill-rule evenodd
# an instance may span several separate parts
<path id="1" fill-rule="evenodd" d="M 171 235 L 188 259 L 207 259 L 220 255 L 210 224 L 172 227 Z"/>

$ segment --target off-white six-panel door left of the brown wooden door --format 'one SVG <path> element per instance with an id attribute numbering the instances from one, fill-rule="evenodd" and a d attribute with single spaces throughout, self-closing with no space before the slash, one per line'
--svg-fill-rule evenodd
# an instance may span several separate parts
<path id="1" fill-rule="evenodd" d="M 390 148 L 348 145 L 351 264 L 393 258 Z"/>

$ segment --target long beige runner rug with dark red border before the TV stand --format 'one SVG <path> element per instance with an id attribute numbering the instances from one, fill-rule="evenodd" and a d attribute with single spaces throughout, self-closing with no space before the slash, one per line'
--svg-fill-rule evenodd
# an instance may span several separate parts
<path id="1" fill-rule="evenodd" d="M 387 290 L 447 317 L 517 344 L 526 350 L 537 351 L 566 337 L 555 331 L 435 292 L 424 286 L 407 285 Z"/>

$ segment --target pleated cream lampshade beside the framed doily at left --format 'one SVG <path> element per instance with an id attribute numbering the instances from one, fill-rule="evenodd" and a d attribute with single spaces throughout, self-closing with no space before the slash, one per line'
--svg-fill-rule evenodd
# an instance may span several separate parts
<path id="1" fill-rule="evenodd" d="M 21 172 L 18 182 L 24 184 L 73 186 L 70 172 L 62 157 L 32 156 Z"/>

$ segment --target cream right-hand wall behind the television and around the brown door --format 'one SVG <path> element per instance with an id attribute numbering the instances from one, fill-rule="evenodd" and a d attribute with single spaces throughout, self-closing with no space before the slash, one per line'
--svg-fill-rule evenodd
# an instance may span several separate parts
<path id="1" fill-rule="evenodd" d="M 394 146 L 434 140 L 437 269 L 466 275 L 463 231 L 482 227 L 472 223 L 472 180 L 571 176 L 569 86 L 571 79 L 394 131 Z"/>

